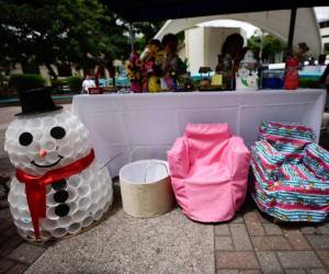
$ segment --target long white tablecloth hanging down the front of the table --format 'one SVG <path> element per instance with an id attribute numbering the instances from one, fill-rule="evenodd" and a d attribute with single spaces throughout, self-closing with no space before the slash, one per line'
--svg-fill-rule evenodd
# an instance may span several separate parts
<path id="1" fill-rule="evenodd" d="M 132 160 L 166 159 L 186 123 L 228 123 L 250 146 L 262 121 L 310 126 L 319 138 L 325 90 L 76 95 L 72 112 L 90 132 L 112 176 Z"/>

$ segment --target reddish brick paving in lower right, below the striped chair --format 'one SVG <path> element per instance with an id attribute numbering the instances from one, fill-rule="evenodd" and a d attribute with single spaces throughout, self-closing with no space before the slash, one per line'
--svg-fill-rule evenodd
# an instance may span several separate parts
<path id="1" fill-rule="evenodd" d="M 216 273 L 329 273 L 329 222 L 273 224 L 251 198 L 215 225 Z"/>

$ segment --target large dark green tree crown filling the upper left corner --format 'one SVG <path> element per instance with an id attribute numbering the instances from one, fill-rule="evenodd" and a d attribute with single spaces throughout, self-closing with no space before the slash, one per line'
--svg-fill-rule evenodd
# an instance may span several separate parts
<path id="1" fill-rule="evenodd" d="M 88 70 L 127 57 L 126 24 L 98 0 L 0 0 L 0 66 L 33 60 Z"/>

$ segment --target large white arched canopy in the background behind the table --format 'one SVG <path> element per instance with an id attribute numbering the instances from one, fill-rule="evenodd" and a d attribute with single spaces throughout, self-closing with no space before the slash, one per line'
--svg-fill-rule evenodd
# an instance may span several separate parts
<path id="1" fill-rule="evenodd" d="M 161 39 L 167 33 L 177 34 L 181 31 L 195 27 L 197 24 L 215 20 L 237 20 L 248 22 L 265 32 L 276 35 L 283 41 L 287 41 L 291 11 L 263 11 L 168 20 L 155 38 Z M 297 45 L 300 42 L 305 42 L 309 46 L 313 55 L 318 56 L 321 54 L 321 35 L 313 8 L 298 9 L 297 11 L 294 45 Z"/>

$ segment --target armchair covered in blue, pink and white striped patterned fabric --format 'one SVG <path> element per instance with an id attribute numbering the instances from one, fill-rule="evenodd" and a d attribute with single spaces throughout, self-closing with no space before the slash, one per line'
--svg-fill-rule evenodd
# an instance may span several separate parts
<path id="1" fill-rule="evenodd" d="M 251 147 L 251 194 L 281 220 L 324 221 L 329 212 L 329 152 L 303 125 L 266 123 Z"/>

